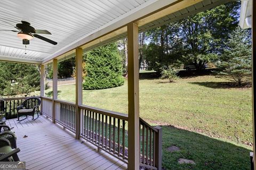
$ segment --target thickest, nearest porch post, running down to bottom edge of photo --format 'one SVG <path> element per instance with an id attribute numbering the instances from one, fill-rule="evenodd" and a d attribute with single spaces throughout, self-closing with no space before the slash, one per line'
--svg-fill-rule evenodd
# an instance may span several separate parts
<path id="1" fill-rule="evenodd" d="M 139 44 L 138 25 L 127 25 L 128 50 L 128 169 L 137 170 L 140 165 L 139 142 Z"/>

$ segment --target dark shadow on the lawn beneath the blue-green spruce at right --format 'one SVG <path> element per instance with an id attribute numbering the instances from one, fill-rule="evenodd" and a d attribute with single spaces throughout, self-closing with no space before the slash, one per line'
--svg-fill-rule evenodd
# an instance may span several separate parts
<path id="1" fill-rule="evenodd" d="M 243 86 L 237 86 L 233 82 L 188 82 L 190 84 L 197 84 L 199 86 L 209 87 L 213 89 L 228 89 L 228 88 L 250 88 L 251 86 L 248 86 L 244 84 Z"/>

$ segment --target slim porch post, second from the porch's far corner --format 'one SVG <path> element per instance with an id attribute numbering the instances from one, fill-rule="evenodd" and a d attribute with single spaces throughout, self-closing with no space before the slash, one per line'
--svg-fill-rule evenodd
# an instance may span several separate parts
<path id="1" fill-rule="evenodd" d="M 55 99 L 58 99 L 58 60 L 52 62 L 52 123 L 55 123 Z"/>

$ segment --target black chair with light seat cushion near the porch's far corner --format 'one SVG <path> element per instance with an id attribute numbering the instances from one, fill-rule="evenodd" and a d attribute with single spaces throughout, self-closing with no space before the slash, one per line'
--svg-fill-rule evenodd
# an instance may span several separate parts
<path id="1" fill-rule="evenodd" d="M 18 115 L 18 121 L 25 120 L 28 116 L 32 116 L 34 120 L 35 112 L 38 115 L 38 108 L 41 105 L 41 100 L 37 97 L 29 97 L 26 100 L 23 101 L 21 106 L 17 107 L 17 115 Z M 20 120 L 21 116 L 26 116 L 26 118 Z"/>

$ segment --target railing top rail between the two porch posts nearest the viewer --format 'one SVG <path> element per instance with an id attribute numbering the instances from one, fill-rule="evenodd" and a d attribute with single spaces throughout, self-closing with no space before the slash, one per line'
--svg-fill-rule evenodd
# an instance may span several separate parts
<path id="1" fill-rule="evenodd" d="M 79 105 L 78 106 L 81 109 L 86 109 L 87 111 L 92 111 L 96 113 L 101 113 L 103 115 L 119 118 L 125 121 L 128 121 L 128 115 L 124 113 L 119 113 L 119 112 L 114 112 L 114 111 L 108 111 L 105 109 L 97 108 L 97 107 L 92 107 L 92 106 L 86 106 L 86 105 Z"/>

